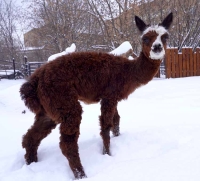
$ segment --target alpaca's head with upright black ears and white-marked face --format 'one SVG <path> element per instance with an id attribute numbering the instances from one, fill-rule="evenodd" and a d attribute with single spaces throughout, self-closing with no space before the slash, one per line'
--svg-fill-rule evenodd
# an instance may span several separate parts
<path id="1" fill-rule="evenodd" d="M 172 23 L 173 14 L 170 13 L 158 25 L 146 25 L 143 20 L 135 16 L 136 26 L 142 34 L 142 51 L 146 57 L 162 60 L 165 56 L 166 43 L 169 38 L 168 29 Z"/>

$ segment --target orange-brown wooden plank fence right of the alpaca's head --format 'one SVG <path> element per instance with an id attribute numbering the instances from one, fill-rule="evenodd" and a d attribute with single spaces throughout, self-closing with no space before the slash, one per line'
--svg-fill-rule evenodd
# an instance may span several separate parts
<path id="1" fill-rule="evenodd" d="M 192 48 L 169 48 L 165 58 L 166 78 L 200 76 L 200 48 L 193 52 Z"/>

